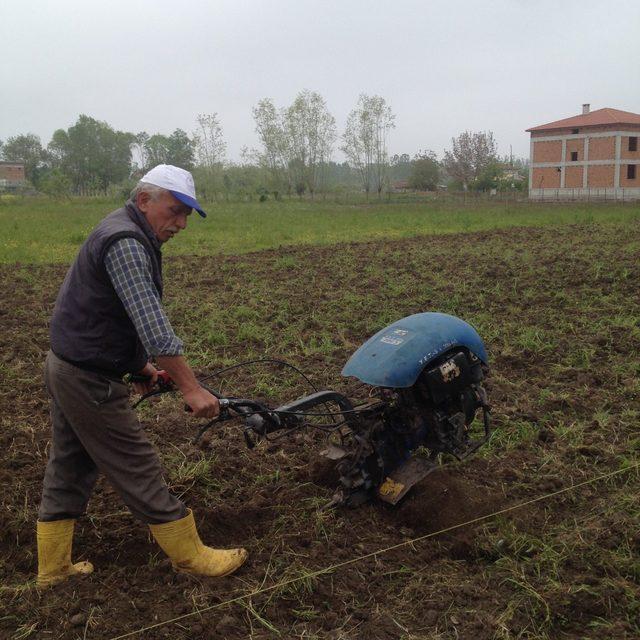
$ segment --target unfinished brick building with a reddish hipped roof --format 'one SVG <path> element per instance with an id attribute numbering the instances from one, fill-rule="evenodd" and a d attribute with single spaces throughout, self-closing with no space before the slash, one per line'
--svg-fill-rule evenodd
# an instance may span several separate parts
<path id="1" fill-rule="evenodd" d="M 527 131 L 531 199 L 640 199 L 640 114 L 584 104 Z"/>

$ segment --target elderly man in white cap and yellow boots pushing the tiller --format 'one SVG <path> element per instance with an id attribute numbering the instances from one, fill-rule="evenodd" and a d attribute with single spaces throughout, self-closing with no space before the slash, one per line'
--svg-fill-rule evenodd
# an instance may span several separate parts
<path id="1" fill-rule="evenodd" d="M 38 584 L 93 571 L 71 562 L 75 520 L 84 514 L 103 473 L 177 571 L 223 576 L 246 559 L 244 549 L 218 550 L 200 541 L 193 514 L 162 479 L 158 457 L 129 405 L 126 373 L 157 380 L 154 358 L 195 416 L 213 418 L 218 400 L 184 359 L 182 342 L 161 305 L 162 243 L 187 226 L 196 200 L 188 171 L 159 165 L 122 209 L 89 235 L 69 269 L 51 318 L 45 383 L 51 396 L 52 442 L 38 513 Z"/>

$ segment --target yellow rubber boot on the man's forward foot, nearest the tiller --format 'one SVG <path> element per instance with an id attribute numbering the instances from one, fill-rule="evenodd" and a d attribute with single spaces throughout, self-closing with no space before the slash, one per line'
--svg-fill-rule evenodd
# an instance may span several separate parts
<path id="1" fill-rule="evenodd" d="M 150 524 L 156 542 L 169 556 L 173 568 L 195 576 L 227 576 L 247 559 L 245 549 L 212 549 L 200 540 L 193 512 L 180 520 Z"/>

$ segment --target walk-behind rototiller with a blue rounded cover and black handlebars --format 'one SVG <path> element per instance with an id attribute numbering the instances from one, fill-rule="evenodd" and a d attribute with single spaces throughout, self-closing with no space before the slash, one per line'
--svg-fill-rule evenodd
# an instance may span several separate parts
<path id="1" fill-rule="evenodd" d="M 337 391 L 316 391 L 273 409 L 224 397 L 204 384 L 224 369 L 201 379 L 218 397 L 220 415 L 200 429 L 194 442 L 234 417 L 244 419 L 250 448 L 261 439 L 320 429 L 330 434 L 321 454 L 335 462 L 340 483 L 327 506 L 357 506 L 375 496 L 396 504 L 438 467 L 441 454 L 462 459 L 487 442 L 489 405 L 481 383 L 488 370 L 484 344 L 473 327 L 443 313 L 418 313 L 376 333 L 342 370 L 370 386 L 366 402 L 354 404 Z M 164 379 L 140 401 L 171 390 Z"/>

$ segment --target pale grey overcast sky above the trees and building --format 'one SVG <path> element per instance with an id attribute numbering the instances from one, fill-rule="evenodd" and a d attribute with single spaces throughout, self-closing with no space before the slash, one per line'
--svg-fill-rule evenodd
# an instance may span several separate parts
<path id="1" fill-rule="evenodd" d="M 640 112 L 639 33 L 638 0 L 0 0 L 0 140 L 46 145 L 83 113 L 190 133 L 217 112 L 238 159 L 258 100 L 311 89 L 339 133 L 360 93 L 386 98 L 392 154 L 491 130 L 528 156 L 525 129 L 583 102 Z"/>

